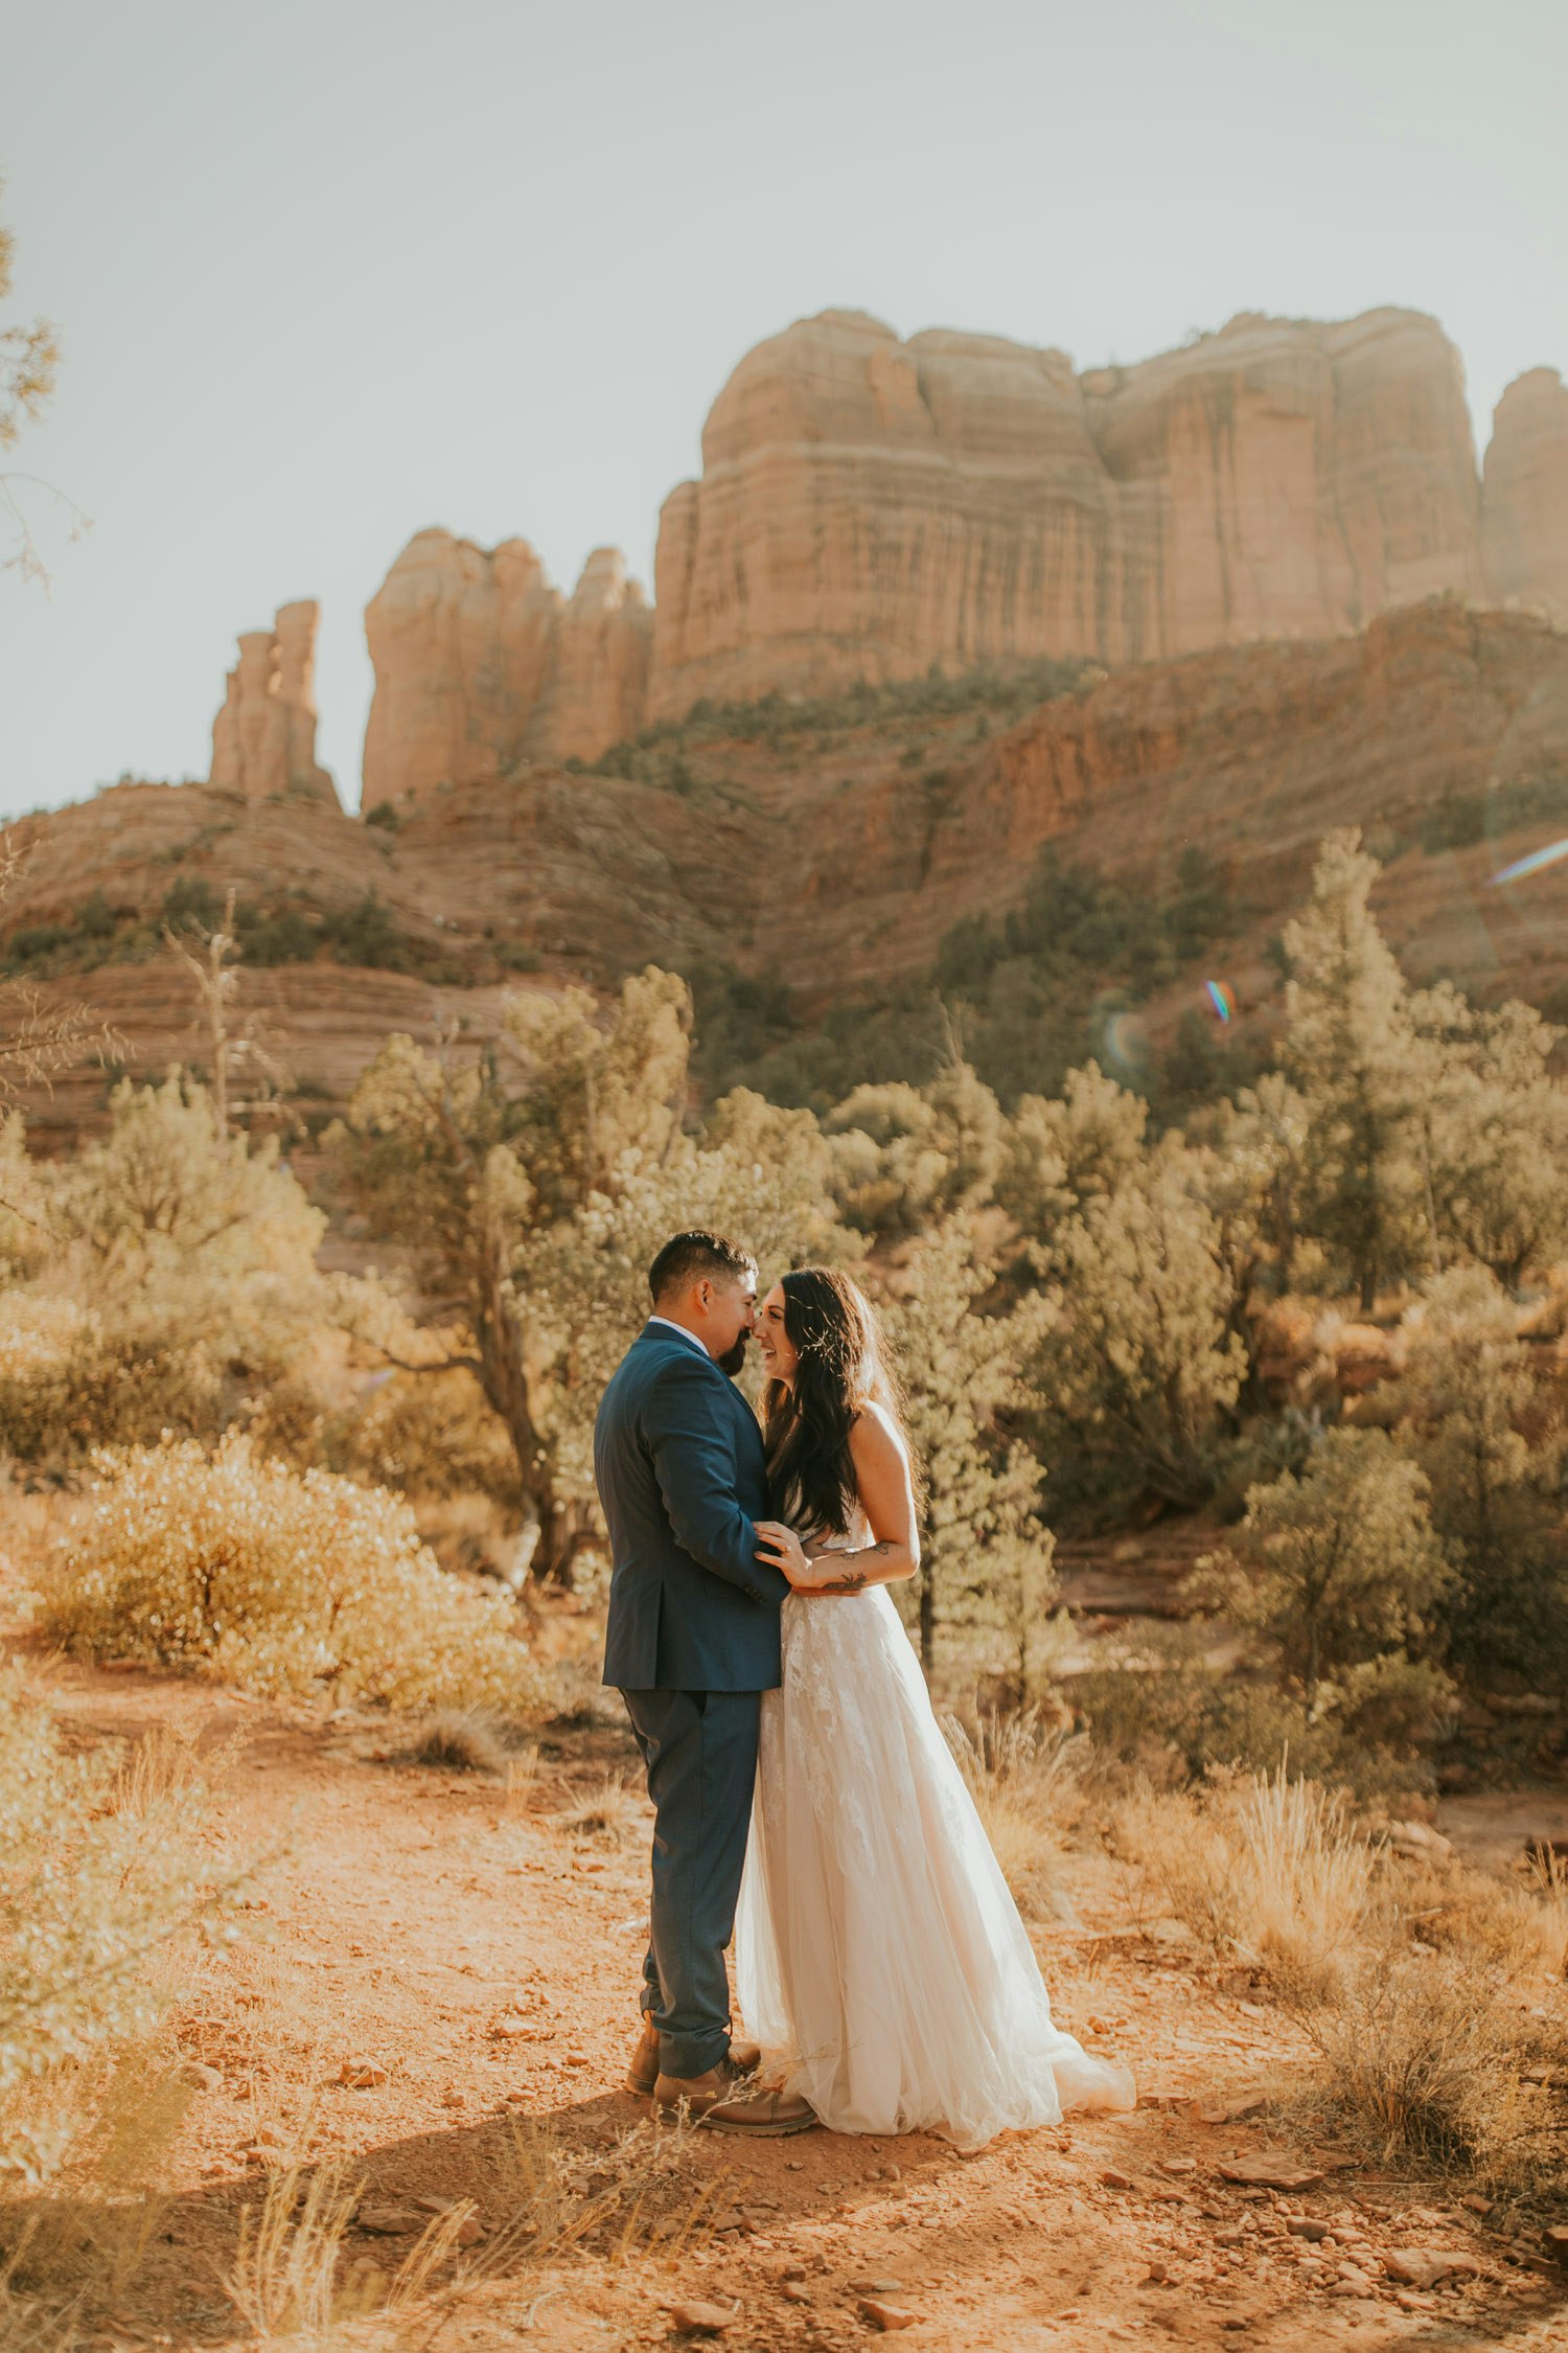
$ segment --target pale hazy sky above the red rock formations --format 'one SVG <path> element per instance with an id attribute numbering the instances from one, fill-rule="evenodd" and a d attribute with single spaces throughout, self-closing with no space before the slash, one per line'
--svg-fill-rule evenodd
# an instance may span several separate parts
<path id="1" fill-rule="evenodd" d="M 1486 433 L 1568 374 L 1566 0 L 49 0 L 9 12 L 0 325 L 66 339 L 0 454 L 0 814 L 200 776 L 233 640 L 362 609 L 442 522 L 651 588 L 750 344 L 827 306 L 1138 360 L 1237 311 L 1436 313 Z"/>

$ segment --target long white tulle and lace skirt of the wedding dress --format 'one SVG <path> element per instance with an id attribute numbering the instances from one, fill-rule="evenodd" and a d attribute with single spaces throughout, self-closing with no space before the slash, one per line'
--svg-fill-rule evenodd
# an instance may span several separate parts
<path id="1" fill-rule="evenodd" d="M 783 1605 L 736 1993 L 748 2033 L 788 2061 L 788 2089 L 832 2132 L 938 2132 L 980 2148 L 1065 2108 L 1133 2106 L 1128 2071 L 1051 2021 L 1027 1929 L 882 1586 Z"/>

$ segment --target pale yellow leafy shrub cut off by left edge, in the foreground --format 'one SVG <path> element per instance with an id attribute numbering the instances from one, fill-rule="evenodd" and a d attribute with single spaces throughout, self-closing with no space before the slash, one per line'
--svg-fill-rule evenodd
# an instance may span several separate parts
<path id="1" fill-rule="evenodd" d="M 176 1991 L 172 1939 L 237 1894 L 205 1817 L 179 1744 L 71 1753 L 21 1673 L 0 1673 L 0 2172 L 59 2167 L 92 2068 Z"/>

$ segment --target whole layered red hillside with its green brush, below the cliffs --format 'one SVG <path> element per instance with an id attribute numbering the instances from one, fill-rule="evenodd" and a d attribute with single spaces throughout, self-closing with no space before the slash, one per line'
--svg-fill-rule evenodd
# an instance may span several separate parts
<path id="1" fill-rule="evenodd" d="M 162 925 L 216 920 L 235 889 L 247 1005 L 322 1106 L 390 1028 L 487 1033 L 520 976 L 602 988 L 649 960 L 696 974 L 715 1082 L 766 1054 L 802 1094 L 818 1061 L 832 1087 L 858 1052 L 929 1054 L 938 984 L 980 1033 L 1006 998 L 1020 1078 L 1074 1052 L 1140 1075 L 1208 1007 L 1206 979 L 1232 993 L 1232 1038 L 1267 1026 L 1269 939 L 1335 824 L 1385 856 L 1380 920 L 1413 974 L 1559 1005 L 1559 878 L 1490 875 L 1566 816 L 1568 635 L 1436 600 L 1356 638 L 1112 675 L 708 708 L 397 824 L 125 784 L 7 828 L 24 868 L 0 953 L 47 1000 L 85 998 L 129 1068 L 200 1059 Z M 1020 906 L 1041 849 L 1110 889 L 1072 927 L 1046 899 L 1053 936 L 1020 951 L 985 922 Z M 94 1066 L 28 1113 L 59 1139 L 101 1092 Z"/>

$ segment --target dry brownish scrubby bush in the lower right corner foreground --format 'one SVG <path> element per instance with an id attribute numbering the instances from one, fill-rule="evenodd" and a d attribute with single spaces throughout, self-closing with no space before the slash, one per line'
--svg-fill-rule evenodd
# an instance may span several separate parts
<path id="1" fill-rule="evenodd" d="M 1418 2160 L 1500 2191 L 1561 2184 L 1554 2097 L 1563 2021 L 1500 2000 L 1474 1962 L 1373 1948 L 1307 2017 L 1333 2122 L 1385 2165 Z"/>

